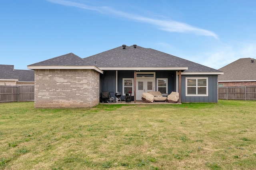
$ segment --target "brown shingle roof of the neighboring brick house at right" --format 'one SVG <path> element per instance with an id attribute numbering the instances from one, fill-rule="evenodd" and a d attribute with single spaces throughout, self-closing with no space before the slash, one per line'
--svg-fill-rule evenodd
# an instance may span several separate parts
<path id="1" fill-rule="evenodd" d="M 219 82 L 256 81 L 256 60 L 243 58 L 219 69 L 224 74 L 218 76 Z"/>

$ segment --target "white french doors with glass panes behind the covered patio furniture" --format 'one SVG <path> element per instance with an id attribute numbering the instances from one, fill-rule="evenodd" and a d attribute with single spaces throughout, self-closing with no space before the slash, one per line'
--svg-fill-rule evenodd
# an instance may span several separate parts
<path id="1" fill-rule="evenodd" d="M 136 100 L 141 100 L 142 93 L 154 91 L 154 79 L 137 79 L 136 80 Z"/>

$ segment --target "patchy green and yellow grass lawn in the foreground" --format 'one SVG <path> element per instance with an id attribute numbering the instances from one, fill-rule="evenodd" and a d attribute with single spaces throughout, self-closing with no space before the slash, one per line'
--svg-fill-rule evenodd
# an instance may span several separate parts
<path id="1" fill-rule="evenodd" d="M 256 101 L 90 109 L 0 103 L 0 169 L 255 168 Z"/>

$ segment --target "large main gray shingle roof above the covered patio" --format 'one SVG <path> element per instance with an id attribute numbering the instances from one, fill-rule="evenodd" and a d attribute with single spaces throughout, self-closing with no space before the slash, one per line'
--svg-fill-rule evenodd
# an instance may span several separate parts
<path id="1" fill-rule="evenodd" d="M 136 46 L 114 49 L 84 58 L 97 67 L 188 67 L 184 72 L 221 72 L 161 51 Z"/>

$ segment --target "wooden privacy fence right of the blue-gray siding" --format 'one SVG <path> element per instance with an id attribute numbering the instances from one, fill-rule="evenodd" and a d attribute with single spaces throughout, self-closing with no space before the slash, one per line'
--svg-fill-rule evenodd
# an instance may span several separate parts
<path id="1" fill-rule="evenodd" d="M 256 100 L 256 86 L 219 87 L 219 99 Z"/>

